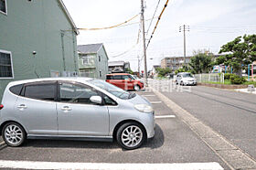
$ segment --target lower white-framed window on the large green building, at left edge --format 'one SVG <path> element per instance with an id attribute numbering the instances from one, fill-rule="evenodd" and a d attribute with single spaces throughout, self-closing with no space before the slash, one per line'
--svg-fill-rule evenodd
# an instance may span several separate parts
<path id="1" fill-rule="evenodd" d="M 0 79 L 13 79 L 12 53 L 0 50 Z"/>

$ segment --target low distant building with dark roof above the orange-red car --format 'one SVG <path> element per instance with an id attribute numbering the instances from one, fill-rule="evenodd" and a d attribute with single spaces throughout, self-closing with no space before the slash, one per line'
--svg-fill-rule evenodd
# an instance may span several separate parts
<path id="1" fill-rule="evenodd" d="M 109 73 L 127 72 L 130 68 L 130 62 L 109 61 Z"/>

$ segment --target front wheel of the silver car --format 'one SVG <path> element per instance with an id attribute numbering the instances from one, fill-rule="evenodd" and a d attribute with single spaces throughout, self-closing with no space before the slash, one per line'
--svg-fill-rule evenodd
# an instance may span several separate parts
<path id="1" fill-rule="evenodd" d="M 117 143 L 123 149 L 132 150 L 140 147 L 146 139 L 144 127 L 137 122 L 126 122 L 116 133 Z"/>

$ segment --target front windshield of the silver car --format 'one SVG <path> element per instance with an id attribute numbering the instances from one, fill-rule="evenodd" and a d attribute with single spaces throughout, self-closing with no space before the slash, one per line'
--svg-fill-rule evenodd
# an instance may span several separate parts
<path id="1" fill-rule="evenodd" d="M 106 91 L 112 93 L 112 95 L 114 95 L 120 99 L 123 99 L 123 100 L 128 100 L 135 96 L 135 95 L 133 95 L 133 93 L 130 93 L 126 90 L 122 90 L 104 80 L 90 80 L 90 82 L 91 82 L 91 84 L 93 84 L 103 90 L 106 90 Z"/>

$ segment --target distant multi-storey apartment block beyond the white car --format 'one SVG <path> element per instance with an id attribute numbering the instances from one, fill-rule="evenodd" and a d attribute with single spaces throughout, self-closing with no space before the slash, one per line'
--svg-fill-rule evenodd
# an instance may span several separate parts
<path id="1" fill-rule="evenodd" d="M 187 65 L 192 57 L 186 57 L 185 64 Z M 169 68 L 173 71 L 181 68 L 184 65 L 184 57 L 163 58 L 161 60 L 161 68 Z"/>

